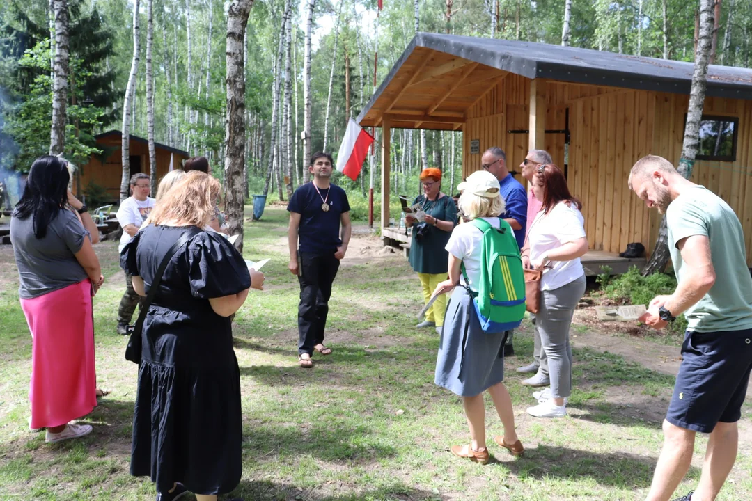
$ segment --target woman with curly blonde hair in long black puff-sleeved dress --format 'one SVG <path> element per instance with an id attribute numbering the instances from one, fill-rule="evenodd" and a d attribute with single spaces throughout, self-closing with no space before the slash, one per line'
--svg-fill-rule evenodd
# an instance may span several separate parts
<path id="1" fill-rule="evenodd" d="M 120 255 L 135 291 L 145 295 L 168 249 L 192 235 L 162 275 L 141 338 L 131 474 L 156 482 L 157 501 L 188 490 L 214 501 L 241 478 L 240 371 L 230 315 L 249 288 L 262 289 L 264 276 L 248 270 L 224 237 L 202 230 L 219 191 L 208 174 L 186 174 Z"/>

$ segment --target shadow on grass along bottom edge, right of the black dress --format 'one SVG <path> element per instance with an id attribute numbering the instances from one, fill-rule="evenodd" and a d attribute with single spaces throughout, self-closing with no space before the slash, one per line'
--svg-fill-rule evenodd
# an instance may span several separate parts
<path id="1" fill-rule="evenodd" d="M 336 482 L 330 488 L 336 488 Z M 341 486 L 339 490 L 341 490 Z M 374 490 L 362 490 L 353 493 L 315 493 L 310 490 L 299 490 L 293 484 L 277 484 L 270 481 L 242 480 L 232 493 L 241 496 L 246 501 L 251 499 L 268 499 L 270 501 L 287 501 L 287 499 L 302 499 L 304 501 L 445 501 L 448 496 L 416 489 L 402 483 L 394 483 Z"/>

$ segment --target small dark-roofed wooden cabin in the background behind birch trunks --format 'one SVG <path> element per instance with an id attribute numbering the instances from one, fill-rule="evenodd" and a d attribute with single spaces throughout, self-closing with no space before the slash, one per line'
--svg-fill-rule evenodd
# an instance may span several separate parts
<path id="1" fill-rule="evenodd" d="M 107 189 L 112 201 L 120 200 L 120 180 L 123 176 L 122 137 L 120 131 L 107 131 L 96 137 L 96 144 L 102 150 L 100 155 L 92 155 L 88 164 L 79 165 L 80 189 L 86 189 L 89 182 L 94 182 Z M 143 172 L 150 174 L 149 141 L 143 137 L 130 135 L 130 169 L 131 175 Z M 156 177 L 161 178 L 172 168 L 179 169 L 183 161 L 190 158 L 188 152 L 161 143 L 154 143 L 156 149 Z M 74 192 L 78 187 L 74 183 Z"/>

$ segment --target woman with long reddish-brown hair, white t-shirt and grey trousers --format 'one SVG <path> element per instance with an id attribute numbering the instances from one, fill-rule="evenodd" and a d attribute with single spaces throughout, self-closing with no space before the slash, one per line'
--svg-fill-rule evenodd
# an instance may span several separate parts
<path id="1" fill-rule="evenodd" d="M 566 415 L 572 393 L 572 346 L 569 327 L 585 293 L 585 271 L 580 257 L 587 252 L 582 204 L 569 193 L 566 178 L 554 164 L 543 164 L 532 177 L 535 198 L 543 206 L 530 225 L 523 249 L 523 266 L 543 270 L 541 304 L 535 330 L 548 358 L 548 374 L 538 373 L 523 384 L 550 389 L 533 394 L 538 405 L 527 412 L 537 418 Z"/>

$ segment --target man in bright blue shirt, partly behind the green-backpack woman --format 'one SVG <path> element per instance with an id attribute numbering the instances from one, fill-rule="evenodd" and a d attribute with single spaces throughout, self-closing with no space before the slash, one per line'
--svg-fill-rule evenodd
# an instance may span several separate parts
<path id="1" fill-rule="evenodd" d="M 507 169 L 507 155 L 499 146 L 492 146 L 481 156 L 481 168 L 489 171 L 499 180 L 499 193 L 506 206 L 502 218 L 509 223 L 514 231 L 517 246 L 522 249 L 525 245 L 525 227 L 527 223 L 527 192 L 519 181 L 514 179 Z M 504 345 L 504 356 L 514 355 L 512 337 L 514 330 L 507 331 L 507 342 Z"/>

